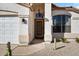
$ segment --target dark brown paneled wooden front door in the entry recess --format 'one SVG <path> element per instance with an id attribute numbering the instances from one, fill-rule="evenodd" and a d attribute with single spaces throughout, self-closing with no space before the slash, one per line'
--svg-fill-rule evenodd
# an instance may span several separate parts
<path id="1" fill-rule="evenodd" d="M 35 19 L 35 38 L 44 38 L 44 19 Z"/>

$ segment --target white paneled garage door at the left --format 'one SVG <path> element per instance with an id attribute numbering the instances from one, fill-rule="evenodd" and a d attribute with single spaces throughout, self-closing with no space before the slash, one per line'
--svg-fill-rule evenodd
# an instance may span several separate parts
<path id="1" fill-rule="evenodd" d="M 0 17 L 0 44 L 11 42 L 18 44 L 19 40 L 18 17 Z"/>

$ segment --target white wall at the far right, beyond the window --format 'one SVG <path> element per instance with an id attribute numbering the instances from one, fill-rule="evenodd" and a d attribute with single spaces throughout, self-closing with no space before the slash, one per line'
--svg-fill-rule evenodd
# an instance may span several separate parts
<path id="1" fill-rule="evenodd" d="M 79 33 L 79 14 L 70 12 L 71 16 L 71 33 Z"/>

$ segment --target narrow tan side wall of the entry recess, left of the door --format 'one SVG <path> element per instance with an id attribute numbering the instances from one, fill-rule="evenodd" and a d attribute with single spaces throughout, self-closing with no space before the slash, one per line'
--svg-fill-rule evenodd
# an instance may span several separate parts
<path id="1" fill-rule="evenodd" d="M 28 20 L 29 43 L 34 39 L 34 12 L 29 10 Z"/>

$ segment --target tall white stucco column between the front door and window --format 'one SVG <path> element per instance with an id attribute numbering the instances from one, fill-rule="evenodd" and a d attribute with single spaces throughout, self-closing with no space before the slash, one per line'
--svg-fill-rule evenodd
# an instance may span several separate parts
<path id="1" fill-rule="evenodd" d="M 45 33 L 44 33 L 44 41 L 51 42 L 52 41 L 52 15 L 51 15 L 51 3 L 45 3 Z"/>

